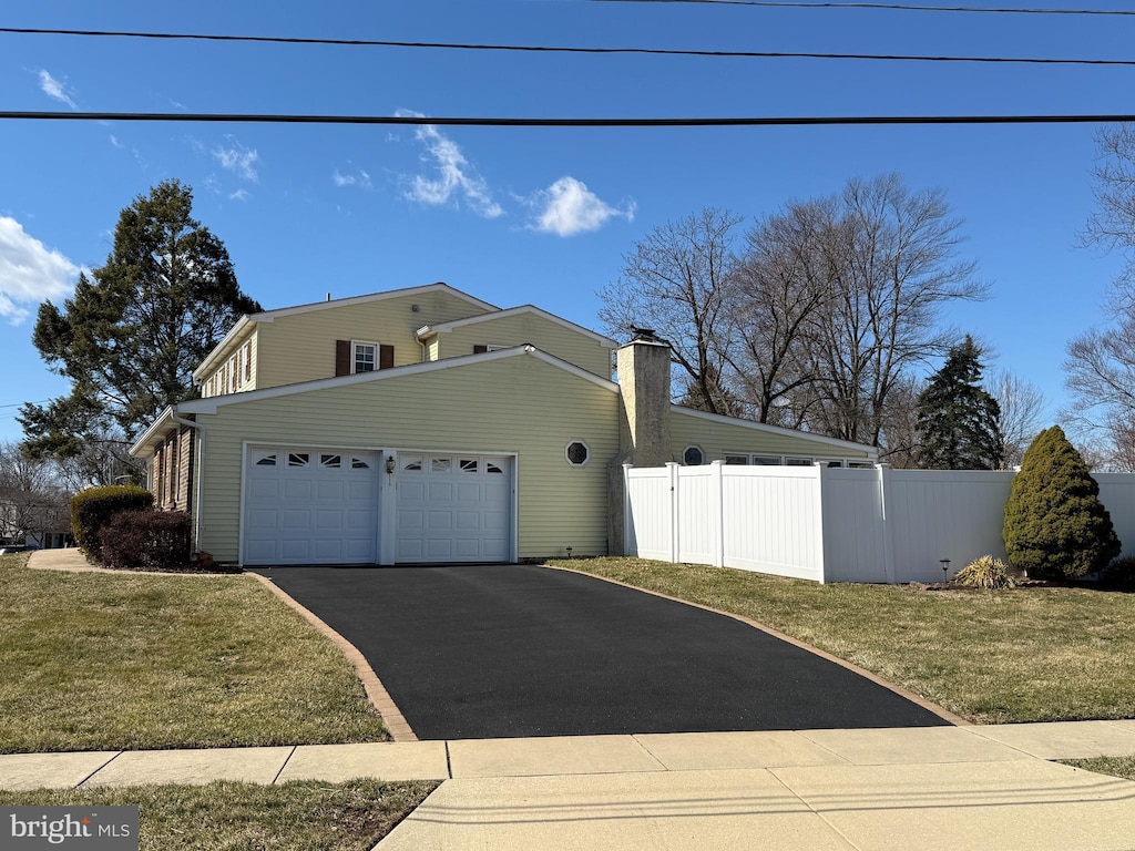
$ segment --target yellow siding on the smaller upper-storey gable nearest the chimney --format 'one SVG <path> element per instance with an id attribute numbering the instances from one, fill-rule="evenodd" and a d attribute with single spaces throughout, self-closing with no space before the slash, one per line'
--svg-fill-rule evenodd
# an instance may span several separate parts
<path id="1" fill-rule="evenodd" d="M 439 357 L 473 353 L 473 346 L 520 346 L 530 343 L 600 378 L 611 378 L 611 349 L 587 335 L 565 328 L 536 313 L 519 313 L 472 322 L 438 334 Z"/>

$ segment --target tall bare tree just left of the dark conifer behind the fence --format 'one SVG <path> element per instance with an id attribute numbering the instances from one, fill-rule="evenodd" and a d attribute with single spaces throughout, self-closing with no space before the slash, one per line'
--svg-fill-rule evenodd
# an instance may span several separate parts
<path id="1" fill-rule="evenodd" d="M 910 192 L 894 174 L 851 180 L 825 251 L 839 258 L 814 336 L 814 430 L 878 446 L 891 393 L 956 334 L 941 307 L 981 300 L 975 264 L 956 260 L 961 222 L 941 189 Z"/>

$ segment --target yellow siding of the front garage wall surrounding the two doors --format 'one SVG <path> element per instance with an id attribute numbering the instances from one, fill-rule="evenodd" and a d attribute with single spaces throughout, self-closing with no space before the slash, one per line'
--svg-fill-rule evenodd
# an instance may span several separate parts
<path id="1" fill-rule="evenodd" d="M 255 399 L 200 414 L 201 547 L 238 558 L 242 445 L 518 453 L 519 556 L 607 547 L 607 464 L 619 452 L 617 395 L 533 356 L 392 376 Z M 564 458 L 583 440 L 587 466 Z M 381 473 L 385 475 L 385 473 Z"/>

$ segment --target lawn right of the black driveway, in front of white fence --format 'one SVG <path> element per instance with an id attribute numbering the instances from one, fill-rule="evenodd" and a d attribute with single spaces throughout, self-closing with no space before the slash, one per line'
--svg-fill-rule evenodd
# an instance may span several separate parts
<path id="1" fill-rule="evenodd" d="M 1135 595 L 819 585 L 638 558 L 550 564 L 745 615 L 973 722 L 1135 717 Z"/>

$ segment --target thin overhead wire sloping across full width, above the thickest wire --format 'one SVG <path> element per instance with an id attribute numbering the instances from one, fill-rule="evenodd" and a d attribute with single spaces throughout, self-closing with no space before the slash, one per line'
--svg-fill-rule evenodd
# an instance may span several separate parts
<path id="1" fill-rule="evenodd" d="M 602 0 L 612 2 L 613 0 Z M 624 0 L 619 0 L 620 2 Z M 657 0 L 631 0 L 655 2 Z M 686 2 L 688 0 L 661 0 Z M 706 1 L 706 0 L 699 0 Z M 716 2 L 717 0 L 713 0 Z M 999 62 L 1022 65 L 1119 65 L 1135 66 L 1135 59 L 1045 59 L 1039 57 L 917 56 L 903 53 L 812 53 L 773 50 L 671 50 L 665 48 L 556 48 L 538 44 L 464 44 L 460 42 L 372 41 L 365 39 L 302 39 L 276 35 L 210 35 L 204 33 L 144 33 L 108 30 L 36 30 L 0 27 L 0 33 L 16 35 L 81 35 L 116 39 L 159 39 L 184 41 L 260 42 L 269 44 L 331 44 L 353 48 L 426 48 L 430 50 L 518 51 L 527 53 L 637 53 L 650 56 L 700 56 L 742 59 L 868 59 L 901 62 Z"/>

